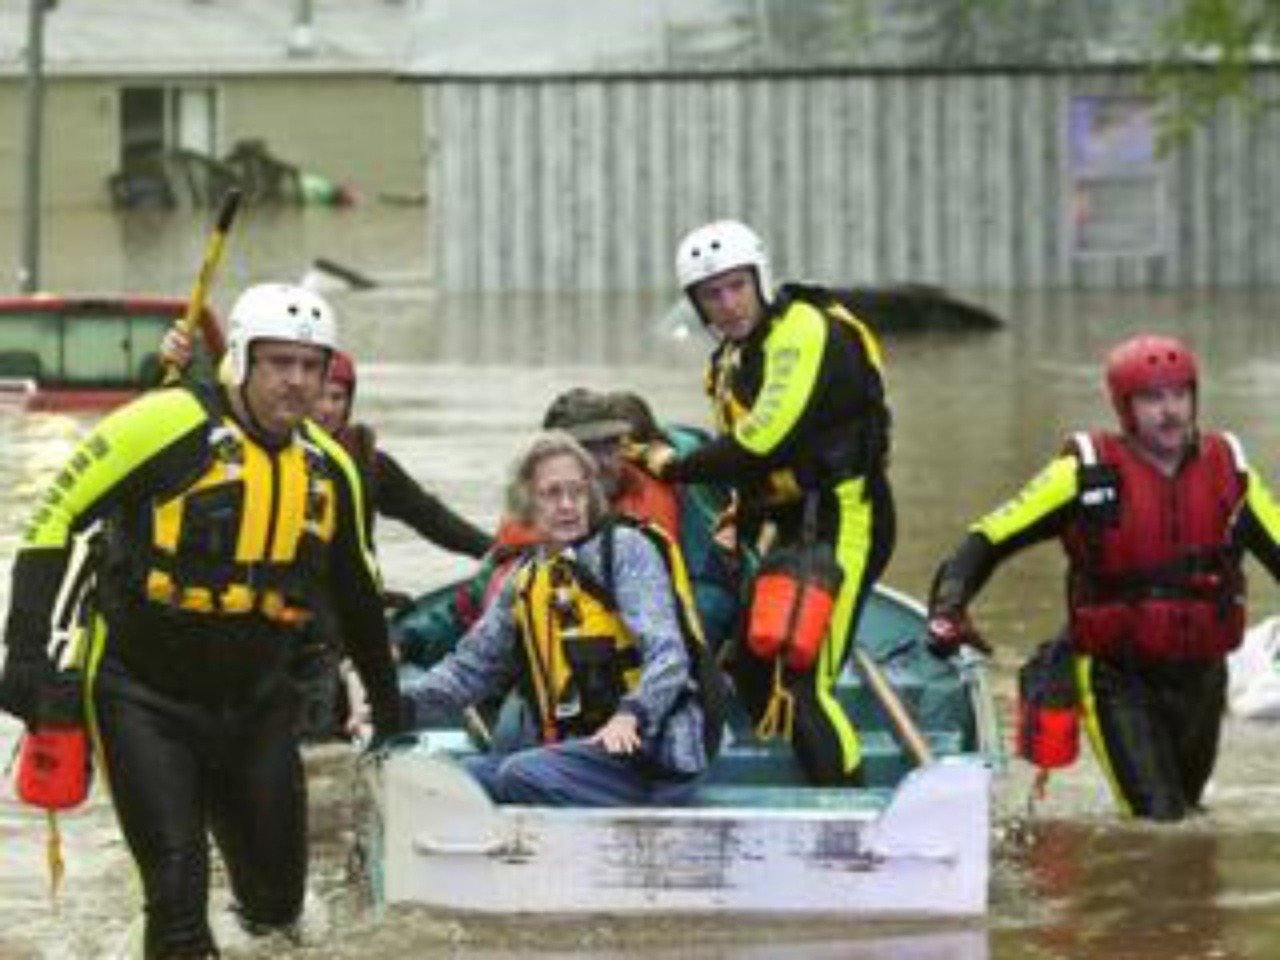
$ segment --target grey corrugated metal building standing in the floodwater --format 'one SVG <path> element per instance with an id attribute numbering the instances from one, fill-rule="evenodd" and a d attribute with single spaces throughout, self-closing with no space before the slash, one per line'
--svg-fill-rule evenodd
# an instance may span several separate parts
<path id="1" fill-rule="evenodd" d="M 781 273 L 850 284 L 1280 278 L 1280 111 L 1228 105 L 1162 154 L 1119 41 L 940 65 L 915 55 L 922 4 L 896 6 L 892 29 L 837 3 L 425 0 L 435 284 L 669 288 L 678 237 L 716 216 L 760 229 Z M 769 8 L 790 13 L 753 18 Z M 824 42 L 777 36 L 805 15 Z M 1280 95 L 1276 69 L 1254 82 Z"/>

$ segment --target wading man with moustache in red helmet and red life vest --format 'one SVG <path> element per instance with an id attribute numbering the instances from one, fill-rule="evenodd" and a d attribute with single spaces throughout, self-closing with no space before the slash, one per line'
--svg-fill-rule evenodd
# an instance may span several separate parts
<path id="1" fill-rule="evenodd" d="M 1080 433 L 975 522 L 938 570 L 934 650 L 982 645 L 966 608 L 1011 553 L 1066 549 L 1068 636 L 1085 730 L 1126 815 L 1199 806 L 1217 755 L 1226 654 L 1244 628 L 1243 550 L 1280 577 L 1280 507 L 1226 433 L 1197 428 L 1196 356 L 1140 335 L 1107 360 L 1120 433 Z"/>

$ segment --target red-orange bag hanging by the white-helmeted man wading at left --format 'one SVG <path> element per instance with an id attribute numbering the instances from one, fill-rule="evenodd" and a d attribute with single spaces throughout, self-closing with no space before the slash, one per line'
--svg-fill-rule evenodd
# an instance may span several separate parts
<path id="1" fill-rule="evenodd" d="M 79 675 L 61 673 L 41 698 L 18 753 L 18 797 L 45 810 L 78 806 L 88 795 L 88 736 Z"/>

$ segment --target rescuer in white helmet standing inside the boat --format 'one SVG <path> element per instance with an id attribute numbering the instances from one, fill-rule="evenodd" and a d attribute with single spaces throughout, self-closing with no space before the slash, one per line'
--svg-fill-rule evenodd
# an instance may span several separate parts
<path id="1" fill-rule="evenodd" d="M 776 530 L 773 572 L 804 575 L 788 570 L 788 556 L 804 557 L 800 567 L 828 568 L 833 608 L 826 628 L 815 622 L 806 639 L 767 643 L 754 643 L 749 630 L 733 672 L 762 732 L 788 733 L 813 783 L 854 783 L 858 733 L 832 689 L 893 549 L 879 343 L 828 291 L 774 291 L 764 243 L 735 220 L 685 237 L 676 274 L 719 339 L 707 371 L 719 435 L 678 457 L 662 444 L 635 457 L 663 480 L 736 488 L 744 543 L 754 543 L 765 521 Z M 762 561 L 762 572 L 771 566 Z M 760 582 L 753 618 L 764 608 Z"/>

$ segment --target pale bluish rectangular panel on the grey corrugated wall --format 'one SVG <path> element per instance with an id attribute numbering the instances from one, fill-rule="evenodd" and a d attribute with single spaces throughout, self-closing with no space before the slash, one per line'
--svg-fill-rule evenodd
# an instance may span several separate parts
<path id="1" fill-rule="evenodd" d="M 1065 221 L 1073 257 L 1169 252 L 1167 191 L 1155 129 L 1149 99 L 1071 97 Z"/>

